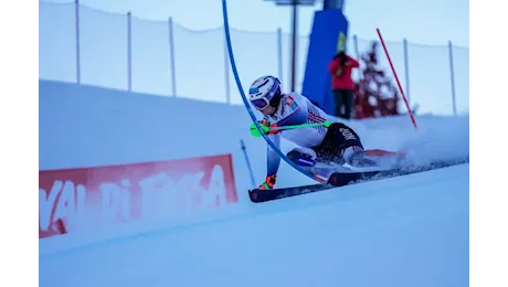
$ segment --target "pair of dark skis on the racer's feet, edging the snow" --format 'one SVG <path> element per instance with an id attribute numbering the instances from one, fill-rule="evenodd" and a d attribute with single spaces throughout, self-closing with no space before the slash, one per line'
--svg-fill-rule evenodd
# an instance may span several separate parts
<path id="1" fill-rule="evenodd" d="M 398 173 L 402 167 L 400 160 L 405 158 L 405 155 L 402 152 L 391 152 L 384 150 L 368 150 L 367 155 L 391 159 L 398 163 L 390 164 L 390 168 L 372 167 L 363 169 L 321 163 L 315 167 L 313 170 L 309 170 L 309 172 L 314 174 L 314 179 L 319 183 L 272 190 L 254 189 L 248 191 L 248 196 L 252 202 L 261 203 L 305 193 L 318 192 L 332 188 L 345 187 L 358 181 L 372 180 L 373 178 L 385 178 Z"/>

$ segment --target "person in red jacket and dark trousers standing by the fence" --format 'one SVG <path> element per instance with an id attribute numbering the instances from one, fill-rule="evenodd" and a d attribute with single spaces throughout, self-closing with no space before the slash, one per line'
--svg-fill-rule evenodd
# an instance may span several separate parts
<path id="1" fill-rule="evenodd" d="M 345 51 L 340 51 L 328 64 L 328 72 L 331 74 L 331 91 L 335 97 L 335 115 L 350 119 L 353 98 L 354 82 L 351 78 L 351 71 L 359 67 L 360 63 L 350 57 Z M 345 113 L 342 113 L 342 106 Z"/>

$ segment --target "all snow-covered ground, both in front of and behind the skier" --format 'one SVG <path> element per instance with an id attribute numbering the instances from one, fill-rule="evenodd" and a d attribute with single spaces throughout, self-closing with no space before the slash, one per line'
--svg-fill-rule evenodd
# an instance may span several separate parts
<path id="1" fill-rule="evenodd" d="M 240 192 L 227 209 L 39 241 L 39 286 L 469 286 L 468 164 L 252 204 L 239 141 L 256 181 L 266 147 L 243 107 L 38 84 L 40 168 L 231 152 Z M 348 124 L 420 162 L 469 155 L 469 117 L 416 120 L 419 132 L 406 116 Z M 279 174 L 278 187 L 311 182 L 285 163 Z"/>

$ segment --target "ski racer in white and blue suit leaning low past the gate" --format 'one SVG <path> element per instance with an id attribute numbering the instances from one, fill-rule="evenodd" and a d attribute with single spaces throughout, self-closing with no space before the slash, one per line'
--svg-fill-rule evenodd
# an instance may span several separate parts
<path id="1" fill-rule="evenodd" d="M 251 104 L 264 115 L 260 124 L 269 129 L 326 120 L 332 123 L 329 127 L 313 126 L 267 132 L 277 148 L 281 147 L 281 135 L 298 146 L 286 153 L 296 164 L 307 170 L 311 170 L 317 162 L 347 162 L 353 167 L 375 166 L 375 162 L 364 158 L 362 142 L 353 129 L 326 114 L 305 96 L 295 92 L 283 94 L 278 78 L 269 75 L 257 78 L 251 85 L 248 94 Z M 279 163 L 281 158 L 268 146 L 267 173 L 265 182 L 258 187 L 260 190 L 274 188 Z"/>

